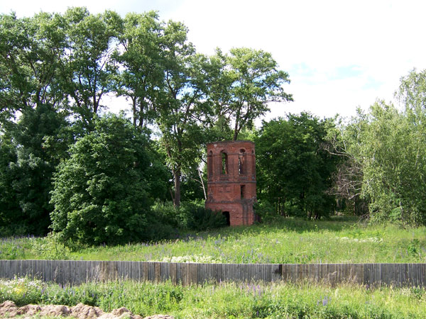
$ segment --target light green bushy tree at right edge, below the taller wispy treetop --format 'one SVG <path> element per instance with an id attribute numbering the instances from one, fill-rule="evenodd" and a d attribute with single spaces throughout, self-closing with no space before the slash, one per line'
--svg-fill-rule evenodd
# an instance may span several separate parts
<path id="1" fill-rule="evenodd" d="M 426 128 L 418 120 L 383 102 L 371 106 L 359 158 L 373 220 L 426 222 Z"/>

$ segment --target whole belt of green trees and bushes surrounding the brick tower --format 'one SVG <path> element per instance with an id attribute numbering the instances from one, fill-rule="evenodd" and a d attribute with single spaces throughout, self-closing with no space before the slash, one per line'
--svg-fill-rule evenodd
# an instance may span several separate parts
<path id="1" fill-rule="evenodd" d="M 401 79 L 401 108 L 256 130 L 270 102 L 293 100 L 287 72 L 263 50 L 202 55 L 187 33 L 153 11 L 0 15 L 1 235 L 97 244 L 220 225 L 200 208 L 205 144 L 238 138 L 256 142 L 265 218 L 426 224 L 425 71 Z M 107 95 L 126 97 L 131 118 L 106 116 Z"/>

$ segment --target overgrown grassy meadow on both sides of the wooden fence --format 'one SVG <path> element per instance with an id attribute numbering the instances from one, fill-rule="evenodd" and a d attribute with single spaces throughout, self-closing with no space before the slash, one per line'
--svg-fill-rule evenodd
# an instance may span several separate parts
<path id="1" fill-rule="evenodd" d="M 315 263 L 426 262 L 426 229 L 367 225 L 353 218 L 280 218 L 251 227 L 181 233 L 173 240 L 115 247 L 75 247 L 54 236 L 1 240 L 2 259 L 156 260 L 163 262 Z M 0 281 L 0 302 L 85 303 L 105 311 L 126 307 L 139 315 L 175 318 L 426 318 L 424 288 L 327 283 L 92 282 L 81 286 L 37 279 Z"/>

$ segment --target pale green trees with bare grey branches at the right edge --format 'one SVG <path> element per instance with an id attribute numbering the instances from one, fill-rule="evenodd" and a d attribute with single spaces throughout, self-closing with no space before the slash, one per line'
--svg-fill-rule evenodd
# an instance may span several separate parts
<path id="1" fill-rule="evenodd" d="M 371 220 L 426 223 L 425 79 L 413 70 L 396 92 L 400 108 L 377 101 L 329 132 L 332 152 L 344 159 L 334 194 L 364 206 L 355 211 Z"/>

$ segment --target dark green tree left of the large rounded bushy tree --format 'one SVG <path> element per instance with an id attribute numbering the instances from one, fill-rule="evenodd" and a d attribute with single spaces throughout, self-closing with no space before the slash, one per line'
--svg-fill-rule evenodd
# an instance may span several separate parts
<path id="1" fill-rule="evenodd" d="M 10 162 L 9 167 L 21 208 L 21 214 L 13 222 L 25 226 L 27 233 L 48 233 L 53 210 L 49 204 L 51 181 L 60 159 L 66 157 L 69 142 L 66 126 L 61 113 L 42 104 L 23 113 L 11 132 L 16 162 Z"/>

